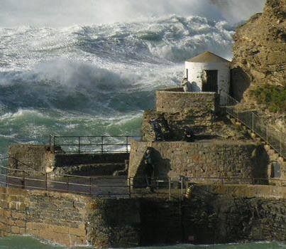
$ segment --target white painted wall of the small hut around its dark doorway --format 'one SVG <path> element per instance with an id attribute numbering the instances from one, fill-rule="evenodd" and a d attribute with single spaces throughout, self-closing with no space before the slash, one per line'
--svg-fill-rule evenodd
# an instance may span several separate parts
<path id="1" fill-rule="evenodd" d="M 231 70 L 229 63 L 192 63 L 185 62 L 185 77 L 192 85 L 192 92 L 202 92 L 202 75 L 204 70 L 218 70 L 218 89 L 229 93 Z M 188 72 L 188 75 L 187 75 Z"/>

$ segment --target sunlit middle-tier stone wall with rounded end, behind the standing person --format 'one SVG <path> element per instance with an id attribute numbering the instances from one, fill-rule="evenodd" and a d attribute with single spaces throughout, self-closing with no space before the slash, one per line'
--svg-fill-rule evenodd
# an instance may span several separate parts
<path id="1" fill-rule="evenodd" d="M 187 176 L 195 182 L 212 182 L 224 178 L 224 181 L 232 183 L 255 183 L 253 178 L 268 178 L 268 156 L 263 147 L 257 147 L 252 142 L 133 140 L 128 176 L 134 178 L 134 186 L 141 186 L 145 182 L 142 160 L 147 147 L 153 149 L 155 177 L 160 179 Z"/>

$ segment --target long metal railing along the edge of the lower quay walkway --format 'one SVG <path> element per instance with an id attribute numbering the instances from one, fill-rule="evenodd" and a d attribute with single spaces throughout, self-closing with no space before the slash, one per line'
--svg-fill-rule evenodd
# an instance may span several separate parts
<path id="1" fill-rule="evenodd" d="M 141 184 L 134 184 L 135 180 Z M 125 176 L 75 176 L 53 174 L 38 171 L 11 169 L 0 166 L 0 186 L 29 190 L 60 191 L 100 198 L 133 198 L 156 196 L 161 198 L 184 198 L 187 189 L 193 184 L 258 184 L 275 182 L 286 186 L 286 179 L 238 178 L 238 177 L 185 177 L 153 178 L 151 188 L 146 189 L 143 178 Z"/>

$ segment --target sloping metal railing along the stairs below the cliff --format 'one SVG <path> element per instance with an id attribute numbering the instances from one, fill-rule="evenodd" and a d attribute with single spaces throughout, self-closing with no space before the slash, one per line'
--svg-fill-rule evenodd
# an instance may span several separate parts
<path id="1" fill-rule="evenodd" d="M 286 134 L 277 132 L 253 111 L 239 111 L 238 104 L 239 102 L 226 92 L 221 92 L 221 107 L 226 110 L 226 113 L 251 129 L 253 133 L 269 144 L 280 157 L 286 159 Z"/>

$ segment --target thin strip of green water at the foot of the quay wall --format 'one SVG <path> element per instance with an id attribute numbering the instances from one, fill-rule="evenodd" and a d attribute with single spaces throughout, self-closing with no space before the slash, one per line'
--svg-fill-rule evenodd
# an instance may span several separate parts
<path id="1" fill-rule="evenodd" d="M 85 247 L 90 248 L 90 247 Z M 247 244 L 228 244 L 228 245 L 173 245 L 157 246 L 140 249 L 280 249 L 286 245 L 280 243 L 247 243 Z M 0 249 L 67 249 L 59 245 L 51 245 L 30 237 L 9 237 L 0 238 Z M 83 249 L 76 247 L 74 249 Z M 139 248 L 137 248 L 139 249 Z"/>

